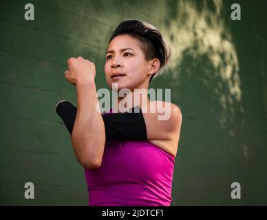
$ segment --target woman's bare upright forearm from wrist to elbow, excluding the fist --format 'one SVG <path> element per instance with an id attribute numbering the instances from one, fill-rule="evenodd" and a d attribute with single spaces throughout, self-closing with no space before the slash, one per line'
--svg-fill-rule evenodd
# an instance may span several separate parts
<path id="1" fill-rule="evenodd" d="M 77 115 L 72 131 L 72 146 L 78 162 L 85 168 L 101 166 L 105 148 L 105 126 L 96 109 L 96 85 L 77 83 Z"/>

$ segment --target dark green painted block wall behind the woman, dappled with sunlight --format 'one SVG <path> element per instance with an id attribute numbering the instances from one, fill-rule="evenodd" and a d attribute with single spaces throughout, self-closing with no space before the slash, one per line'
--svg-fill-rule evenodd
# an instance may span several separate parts
<path id="1" fill-rule="evenodd" d="M 34 21 L 24 5 L 33 3 Z M 231 5 L 241 20 L 231 20 Z M 76 104 L 63 73 L 71 56 L 96 64 L 123 19 L 156 26 L 173 58 L 151 88 L 171 88 L 183 121 L 172 206 L 267 205 L 266 1 L 10 1 L 0 3 L 0 205 L 87 206 L 83 168 L 55 113 Z M 34 199 L 24 198 L 25 182 Z M 241 199 L 231 199 L 231 184 Z"/>

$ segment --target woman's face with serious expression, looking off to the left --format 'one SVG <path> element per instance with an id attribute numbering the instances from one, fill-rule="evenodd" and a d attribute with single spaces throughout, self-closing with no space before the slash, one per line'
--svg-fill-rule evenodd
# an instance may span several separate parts
<path id="1" fill-rule="evenodd" d="M 124 74 L 113 78 L 114 74 Z M 140 48 L 140 41 L 128 34 L 118 35 L 109 43 L 106 54 L 105 77 L 109 88 L 118 83 L 118 90 L 148 87 L 150 63 Z"/>

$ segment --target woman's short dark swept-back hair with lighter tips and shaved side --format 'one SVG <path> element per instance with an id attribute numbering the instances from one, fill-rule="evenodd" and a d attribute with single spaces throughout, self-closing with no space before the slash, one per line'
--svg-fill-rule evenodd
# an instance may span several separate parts
<path id="1" fill-rule="evenodd" d="M 140 41 L 142 51 L 147 61 L 152 58 L 158 58 L 160 61 L 160 69 L 151 76 L 149 83 L 153 76 L 162 74 L 164 67 L 166 67 L 171 58 L 171 47 L 169 47 L 167 41 L 164 40 L 162 34 L 160 34 L 153 25 L 145 21 L 127 19 L 121 21 L 114 32 L 112 32 L 109 43 L 114 37 L 122 34 L 129 34 Z"/>

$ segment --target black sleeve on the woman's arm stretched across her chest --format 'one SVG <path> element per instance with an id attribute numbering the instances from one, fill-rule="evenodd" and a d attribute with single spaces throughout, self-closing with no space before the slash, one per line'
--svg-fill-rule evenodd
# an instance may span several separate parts
<path id="1" fill-rule="evenodd" d="M 72 134 L 77 108 L 69 101 L 56 104 L 56 113 Z M 147 129 L 139 106 L 125 113 L 103 114 L 106 140 L 147 140 Z"/>

